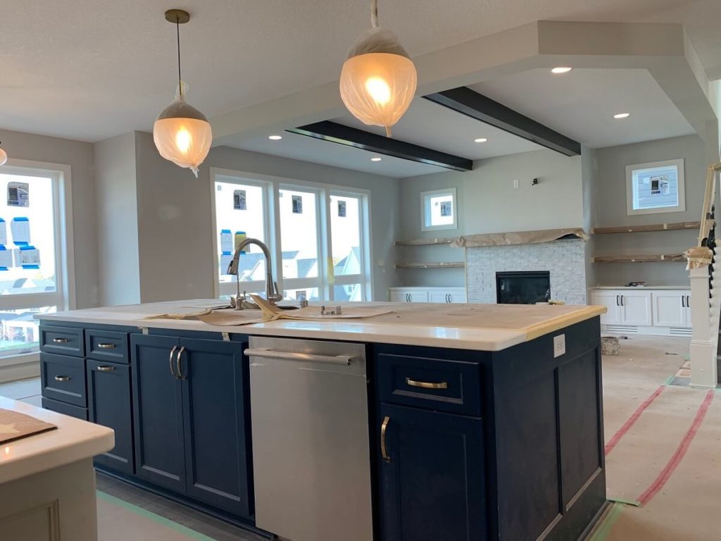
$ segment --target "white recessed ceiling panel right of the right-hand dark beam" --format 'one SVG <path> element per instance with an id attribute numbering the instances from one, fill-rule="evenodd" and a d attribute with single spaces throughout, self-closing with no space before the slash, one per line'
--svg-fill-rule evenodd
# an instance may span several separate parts
<path id="1" fill-rule="evenodd" d="M 532 69 L 471 88 L 594 149 L 694 133 L 643 69 Z"/>

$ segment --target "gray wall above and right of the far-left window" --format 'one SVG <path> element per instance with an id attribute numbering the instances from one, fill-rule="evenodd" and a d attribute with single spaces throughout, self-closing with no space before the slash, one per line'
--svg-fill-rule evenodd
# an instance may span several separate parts
<path id="1" fill-rule="evenodd" d="M 7 130 L 0 130 L 0 141 L 9 157 L 71 167 L 76 306 L 97 306 L 99 286 L 92 144 Z"/>

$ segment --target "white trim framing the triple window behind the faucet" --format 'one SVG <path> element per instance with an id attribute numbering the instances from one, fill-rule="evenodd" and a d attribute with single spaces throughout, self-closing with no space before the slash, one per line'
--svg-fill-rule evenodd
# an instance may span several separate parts
<path id="1" fill-rule="evenodd" d="M 239 184 L 247 184 L 247 185 L 265 185 L 267 191 L 265 192 L 266 196 L 269 198 L 268 201 L 272 201 L 273 203 L 268 205 L 268 208 L 270 208 L 270 216 L 266 216 L 266 238 L 269 240 L 267 243 L 268 249 L 270 250 L 271 255 L 273 256 L 272 268 L 273 268 L 273 278 L 275 281 L 278 282 L 278 289 L 280 291 L 283 291 L 283 289 L 303 289 L 306 286 L 297 286 L 293 285 L 292 287 L 284 287 L 283 286 L 283 262 L 282 262 L 282 251 L 280 247 L 280 242 L 276 242 L 276 235 L 275 232 L 280 231 L 280 214 L 278 214 L 278 208 L 279 206 L 279 197 L 278 197 L 278 190 L 282 188 L 288 188 L 291 190 L 297 189 L 298 191 L 312 191 L 315 190 L 319 194 L 319 198 L 323 198 L 324 201 L 330 201 L 330 195 L 350 195 L 354 197 L 362 196 L 361 199 L 361 205 L 363 208 L 361 208 L 361 214 L 363 214 L 363 221 L 361 223 L 361 228 L 363 232 L 363 241 L 366 242 L 368 246 L 367 253 L 364 254 L 364 258 L 366 261 L 364 262 L 365 265 L 367 265 L 364 270 L 367 270 L 366 276 L 361 276 L 359 279 L 349 282 L 349 283 L 362 283 L 363 284 L 363 296 L 364 299 L 367 301 L 369 299 L 373 299 L 373 265 L 371 262 L 373 261 L 373 244 L 371 242 L 371 239 L 373 238 L 373 232 L 371 229 L 371 191 L 366 190 L 364 188 L 355 188 L 354 186 L 343 186 L 343 185 L 335 185 L 335 184 L 324 184 L 322 182 L 311 182 L 309 180 L 300 180 L 300 179 L 293 179 L 288 177 L 278 177 L 275 175 L 264 175 L 262 173 L 256 173 L 256 172 L 249 172 L 249 171 L 238 171 L 238 170 L 231 170 L 231 169 L 224 169 L 221 167 L 210 167 L 209 170 L 209 177 L 210 182 L 208 184 L 208 190 L 211 191 L 211 232 L 212 232 L 212 242 L 210 243 L 210 249 L 211 249 L 211 260 L 215 261 L 217 258 L 216 254 L 216 248 L 218 245 L 218 240 L 216 239 L 217 234 L 217 224 L 216 224 L 216 190 L 215 190 L 215 183 L 216 180 L 222 180 L 222 177 L 226 177 L 228 180 L 227 182 L 237 182 Z M 220 177 L 220 178 L 219 178 Z M 321 219 L 322 216 L 322 222 L 319 221 L 319 224 L 326 224 L 327 226 L 325 228 L 322 228 L 321 235 L 322 237 L 329 234 L 329 228 L 330 228 L 330 221 L 327 219 L 329 216 L 327 212 L 329 211 L 327 206 L 328 204 L 321 204 L 321 201 L 317 204 L 317 212 L 319 213 L 318 219 Z M 455 204 L 455 199 L 454 199 Z M 367 226 L 366 226 L 367 223 Z M 332 298 L 332 286 L 336 285 L 335 283 L 329 283 L 328 281 L 328 270 L 327 270 L 327 263 L 323 264 L 323 261 L 327 262 L 329 254 L 327 253 L 329 247 L 329 238 L 324 237 L 319 239 L 319 242 L 321 243 L 321 246 L 319 247 L 318 252 L 318 258 L 319 258 L 319 275 L 322 276 L 322 281 L 320 283 L 327 284 L 327 291 L 324 290 L 325 296 L 327 296 L 328 299 Z M 361 250 L 363 250 L 363 247 L 361 247 Z M 355 275 L 353 275 L 355 276 Z M 345 278 L 342 277 L 342 278 Z M 293 281 L 294 284 L 301 283 L 296 281 L 311 281 L 316 280 L 317 278 L 289 278 L 289 280 Z M 334 277 L 335 279 L 335 277 Z M 242 282 L 241 283 L 241 289 L 243 289 L 244 286 L 252 286 L 257 284 L 258 282 Z M 337 283 L 337 285 L 342 285 L 342 283 Z M 309 287 L 309 286 L 308 286 Z M 314 286 L 317 287 L 317 286 Z M 233 294 L 235 293 L 235 281 L 233 281 Z M 246 288 L 247 289 L 247 288 Z M 221 295 L 221 285 L 220 281 L 218 279 L 218 273 L 215 268 L 215 265 L 213 265 L 213 291 L 216 295 L 216 298 Z M 265 283 L 262 283 L 262 287 L 260 289 L 257 289 L 257 291 L 265 291 Z M 226 294 L 226 293 L 222 293 Z"/>

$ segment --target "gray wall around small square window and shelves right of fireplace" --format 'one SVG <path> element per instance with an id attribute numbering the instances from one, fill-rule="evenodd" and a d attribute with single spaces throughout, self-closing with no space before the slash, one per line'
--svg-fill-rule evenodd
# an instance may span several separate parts
<path id="1" fill-rule="evenodd" d="M 610 227 L 698 220 L 706 185 L 707 155 L 707 145 L 695 135 L 598 149 L 593 182 L 593 225 Z M 626 166 L 677 158 L 684 159 L 686 211 L 628 216 Z M 595 235 L 594 252 L 599 255 L 684 252 L 696 244 L 697 235 L 696 230 Z M 684 263 L 596 263 L 593 266 L 599 285 L 621 285 L 629 281 L 645 281 L 650 285 L 689 284 Z"/>

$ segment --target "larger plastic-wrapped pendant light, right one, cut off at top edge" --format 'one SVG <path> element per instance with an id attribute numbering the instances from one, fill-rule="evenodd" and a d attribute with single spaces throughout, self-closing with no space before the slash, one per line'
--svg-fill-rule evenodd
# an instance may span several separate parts
<path id="1" fill-rule="evenodd" d="M 371 30 L 348 51 L 340 72 L 340 97 L 355 118 L 371 126 L 398 122 L 415 95 L 417 74 L 408 53 L 390 30 L 378 26 L 378 0 L 371 0 Z"/>

